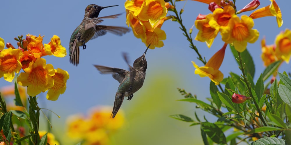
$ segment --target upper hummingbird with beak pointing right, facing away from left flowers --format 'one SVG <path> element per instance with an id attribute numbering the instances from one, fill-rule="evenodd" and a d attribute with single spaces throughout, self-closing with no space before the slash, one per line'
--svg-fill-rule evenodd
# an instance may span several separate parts
<path id="1" fill-rule="evenodd" d="M 91 4 L 86 7 L 84 19 L 82 20 L 80 25 L 74 30 L 70 38 L 69 54 L 70 62 L 72 64 L 76 66 L 79 64 L 79 47 L 83 46 L 83 49 L 86 49 L 85 43 L 87 43 L 89 40 L 95 39 L 98 36 L 105 35 L 107 32 L 122 36 L 123 34 L 130 31 L 130 29 L 126 27 L 97 25 L 101 23 L 103 19 L 116 19 L 119 15 L 121 15 L 115 14 L 105 17 L 98 17 L 102 9 L 109 7 L 114 6 L 102 7 Z"/>

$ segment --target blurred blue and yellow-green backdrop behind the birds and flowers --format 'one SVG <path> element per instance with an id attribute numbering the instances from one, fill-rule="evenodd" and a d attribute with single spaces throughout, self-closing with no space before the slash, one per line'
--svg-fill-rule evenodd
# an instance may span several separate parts
<path id="1" fill-rule="evenodd" d="M 237 9 L 240 10 L 250 1 L 237 1 Z M 265 69 L 260 57 L 261 39 L 266 37 L 267 45 L 273 44 L 276 35 L 285 28 L 290 28 L 291 25 L 288 17 L 291 2 L 279 0 L 276 2 L 283 15 L 284 24 L 281 28 L 277 26 L 276 17 L 263 17 L 254 20 L 254 29 L 260 32 L 260 37 L 254 44 L 248 44 L 247 50 L 255 63 L 255 80 Z M 68 53 L 70 36 L 81 23 L 87 5 L 119 5 L 102 10 L 99 17 L 123 13 L 118 19 L 104 20 L 102 25 L 126 26 L 124 3 L 125 0 L 2 1 L 0 37 L 5 40 L 5 43 L 10 42 L 17 46 L 14 37 L 18 35 L 25 36 L 28 33 L 36 36 L 45 35 L 43 43 L 46 44 L 49 43 L 53 35 L 58 35 L 61 38 L 61 44 L 67 48 Z M 260 3 L 259 8 L 262 8 L 269 5 L 270 1 L 261 0 Z M 182 19 L 188 30 L 194 24 L 199 13 L 211 13 L 207 4 L 197 1 L 180 1 L 176 2 L 176 5 L 177 10 L 184 8 Z M 167 15 L 171 14 L 174 13 L 169 11 Z M 251 12 L 243 14 L 249 15 Z M 182 35 L 179 26 L 180 24 L 177 22 L 165 21 L 161 28 L 167 35 L 167 39 L 163 41 L 164 47 L 148 50 L 145 82 L 143 87 L 134 93 L 132 100 L 124 100 L 121 109 L 125 115 L 125 125 L 112 136 L 113 144 L 203 144 L 199 126 L 189 127 L 189 123 L 169 117 L 169 115 L 184 114 L 194 119 L 194 111 L 197 111 L 199 117 L 205 115 L 208 121 L 216 119 L 196 109 L 195 104 L 176 101 L 183 98 L 178 93 L 177 87 L 196 94 L 198 99 L 205 102 L 207 102 L 206 98 L 210 97 L 210 79 L 200 78 L 194 74 L 195 69 L 191 61 L 195 61 L 198 66 L 203 66 L 203 64 L 196 59 L 195 51 L 189 48 L 189 42 Z M 193 39 L 197 32 L 198 30 L 194 27 Z M 194 41 L 194 44 L 206 60 L 210 59 L 223 46 L 220 35 L 217 35 L 210 49 L 203 42 Z M 48 101 L 45 98 L 46 92 L 38 95 L 38 103 L 41 108 L 50 109 L 61 116 L 58 118 L 45 111 L 45 113 L 51 114 L 49 116 L 53 126 L 52 133 L 62 144 L 76 143 L 70 142 L 65 133 L 67 117 L 74 114 L 87 115 L 88 110 L 94 106 L 113 105 L 119 83 L 111 75 L 98 73 L 93 64 L 128 69 L 121 53 L 127 52 L 130 64 L 132 64 L 146 48 L 141 39 L 134 37 L 132 31 L 122 37 L 108 33 L 88 41 L 86 45 L 85 50 L 80 49 L 80 63 L 77 67 L 70 64 L 69 55 L 64 58 L 44 57 L 48 64 L 53 64 L 54 68 L 62 68 L 70 74 L 67 90 L 60 95 L 57 101 Z M 229 72 L 241 74 L 229 48 L 226 49 L 220 70 L 224 77 L 227 77 Z M 290 71 L 290 65 L 284 62 L 279 71 L 283 70 Z M 8 85 L 13 84 L 3 78 L 0 79 L 0 87 Z M 43 115 L 42 119 L 41 129 L 47 130 Z"/>

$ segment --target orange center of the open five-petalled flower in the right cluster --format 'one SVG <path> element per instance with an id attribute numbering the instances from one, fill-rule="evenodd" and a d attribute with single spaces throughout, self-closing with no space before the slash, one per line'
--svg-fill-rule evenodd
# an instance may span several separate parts
<path id="1" fill-rule="evenodd" d="M 238 41 L 243 41 L 249 35 L 249 30 L 243 23 L 236 23 L 233 27 L 233 37 Z"/>

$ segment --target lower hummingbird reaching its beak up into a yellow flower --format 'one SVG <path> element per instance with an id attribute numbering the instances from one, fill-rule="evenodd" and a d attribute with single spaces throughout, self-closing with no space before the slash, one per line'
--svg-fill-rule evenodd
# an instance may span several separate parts
<path id="1" fill-rule="evenodd" d="M 115 95 L 113 111 L 111 113 L 111 116 L 113 115 L 112 118 L 117 114 L 124 97 L 128 97 L 127 100 L 131 100 L 133 93 L 143 86 L 145 70 L 148 67 L 148 63 L 145 60 L 145 53 L 149 47 L 150 45 L 148 45 L 143 55 L 134 61 L 133 67 L 129 65 L 126 54 L 123 54 L 123 58 L 129 66 L 130 71 L 120 68 L 94 65 L 101 74 L 112 74 L 112 77 L 120 83 Z"/>

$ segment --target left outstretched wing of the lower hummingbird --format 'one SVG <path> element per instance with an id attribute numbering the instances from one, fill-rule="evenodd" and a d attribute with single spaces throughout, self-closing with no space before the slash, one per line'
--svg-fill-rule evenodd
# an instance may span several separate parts
<path id="1" fill-rule="evenodd" d="M 112 74 L 112 77 L 116 79 L 119 83 L 123 81 L 125 78 L 125 75 L 129 73 L 128 70 L 124 70 L 121 68 L 112 68 L 107 66 L 99 66 L 94 65 L 102 74 Z"/>

